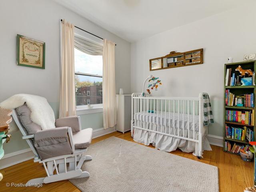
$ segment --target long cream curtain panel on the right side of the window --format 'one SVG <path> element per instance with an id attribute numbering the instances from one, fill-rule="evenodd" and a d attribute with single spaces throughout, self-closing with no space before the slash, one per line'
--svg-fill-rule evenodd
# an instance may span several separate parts
<path id="1" fill-rule="evenodd" d="M 103 44 L 103 125 L 116 125 L 115 43 L 104 39 Z"/>

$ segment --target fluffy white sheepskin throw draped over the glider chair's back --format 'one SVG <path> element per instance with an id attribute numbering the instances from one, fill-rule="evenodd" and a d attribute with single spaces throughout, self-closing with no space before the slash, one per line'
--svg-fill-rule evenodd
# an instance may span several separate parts
<path id="1" fill-rule="evenodd" d="M 55 128 L 55 116 L 46 98 L 30 94 L 16 94 L 0 103 L 0 107 L 15 109 L 26 102 L 31 110 L 30 119 L 41 126 L 42 130 Z"/>

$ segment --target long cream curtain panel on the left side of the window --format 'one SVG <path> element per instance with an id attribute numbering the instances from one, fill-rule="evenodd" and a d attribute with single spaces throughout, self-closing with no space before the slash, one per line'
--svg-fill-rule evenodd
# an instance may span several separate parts
<path id="1" fill-rule="evenodd" d="M 62 20 L 59 118 L 76 115 L 74 25 Z"/>

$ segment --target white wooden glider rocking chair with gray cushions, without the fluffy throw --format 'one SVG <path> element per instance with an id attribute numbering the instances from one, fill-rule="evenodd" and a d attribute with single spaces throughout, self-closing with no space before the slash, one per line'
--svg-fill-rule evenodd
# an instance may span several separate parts
<path id="1" fill-rule="evenodd" d="M 13 110 L 12 117 L 23 135 L 22 139 L 28 142 L 35 154 L 34 162 L 42 163 L 47 174 L 46 177 L 29 180 L 27 184 L 90 176 L 89 172 L 81 170 L 81 166 L 85 160 L 92 160 L 91 156 L 83 155 L 91 143 L 92 129 L 81 130 L 80 116 L 60 118 L 56 120 L 56 128 L 38 130 L 38 125 L 31 126 L 34 123 L 28 120 L 30 110 L 26 104 L 19 108 Z"/>

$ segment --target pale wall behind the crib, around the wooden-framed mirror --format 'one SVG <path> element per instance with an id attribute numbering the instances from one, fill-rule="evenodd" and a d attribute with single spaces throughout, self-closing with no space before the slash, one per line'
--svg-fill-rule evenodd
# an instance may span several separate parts
<path id="1" fill-rule="evenodd" d="M 256 52 L 255 6 L 222 12 L 132 43 L 131 91 L 141 92 L 144 79 L 153 74 L 163 82 L 153 95 L 196 97 L 208 92 L 215 120 L 208 133 L 222 136 L 224 63 L 229 56 L 239 62 L 244 54 Z M 149 59 L 199 48 L 204 48 L 204 64 L 149 71 Z"/>

